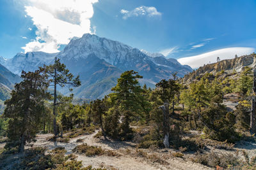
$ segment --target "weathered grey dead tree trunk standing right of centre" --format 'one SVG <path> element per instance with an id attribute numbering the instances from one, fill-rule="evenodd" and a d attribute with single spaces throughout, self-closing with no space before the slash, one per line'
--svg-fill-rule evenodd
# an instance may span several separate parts
<path id="1" fill-rule="evenodd" d="M 159 107 L 163 111 L 163 134 L 164 147 L 170 148 L 169 134 L 170 134 L 170 117 L 169 117 L 169 103 L 166 101 L 163 106 Z"/>

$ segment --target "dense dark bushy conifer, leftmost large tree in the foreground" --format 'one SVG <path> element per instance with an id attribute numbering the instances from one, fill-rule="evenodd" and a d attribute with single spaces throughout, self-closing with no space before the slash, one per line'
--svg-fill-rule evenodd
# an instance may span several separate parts
<path id="1" fill-rule="evenodd" d="M 5 101 L 6 108 L 3 117 L 10 118 L 8 122 L 8 146 L 19 146 L 19 152 L 24 152 L 26 143 L 35 139 L 40 118 L 44 114 L 44 101 L 49 99 L 48 83 L 40 71 L 22 71 L 21 81 L 15 85 L 12 98 Z"/>

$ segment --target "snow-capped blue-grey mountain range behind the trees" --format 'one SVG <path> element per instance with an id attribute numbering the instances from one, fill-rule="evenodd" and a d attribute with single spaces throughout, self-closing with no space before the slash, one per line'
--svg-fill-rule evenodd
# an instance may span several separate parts
<path id="1" fill-rule="evenodd" d="M 176 71 L 178 76 L 192 71 L 191 67 L 182 66 L 175 59 L 148 55 L 118 41 L 84 34 L 82 38 L 73 38 L 60 53 L 18 53 L 13 59 L 0 58 L 0 63 L 13 73 L 20 74 L 22 69 L 33 71 L 38 66 L 49 64 L 57 56 L 73 74 L 81 77 L 82 85 L 74 89 L 74 94 L 90 99 L 108 94 L 116 79 L 127 70 L 138 71 L 143 76 L 141 83 L 150 87 L 163 78 L 171 78 Z"/>

